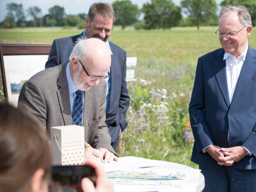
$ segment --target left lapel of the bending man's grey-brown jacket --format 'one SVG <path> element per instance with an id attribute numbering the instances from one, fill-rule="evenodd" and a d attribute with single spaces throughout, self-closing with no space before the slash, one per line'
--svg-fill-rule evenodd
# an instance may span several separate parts
<path id="1" fill-rule="evenodd" d="M 70 98 L 68 92 L 68 81 L 66 76 L 67 63 L 63 64 L 60 68 L 59 80 L 58 80 L 58 101 L 60 104 L 61 115 L 63 116 L 63 122 L 65 125 L 72 125 L 72 114 L 70 106 Z"/>

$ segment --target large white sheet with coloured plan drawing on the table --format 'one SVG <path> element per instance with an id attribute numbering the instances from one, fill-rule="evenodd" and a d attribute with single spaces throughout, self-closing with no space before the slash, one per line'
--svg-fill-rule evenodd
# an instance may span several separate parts
<path id="1" fill-rule="evenodd" d="M 115 192 L 128 191 L 196 191 L 200 170 L 177 163 L 140 157 L 120 157 L 119 162 L 105 164 Z"/>

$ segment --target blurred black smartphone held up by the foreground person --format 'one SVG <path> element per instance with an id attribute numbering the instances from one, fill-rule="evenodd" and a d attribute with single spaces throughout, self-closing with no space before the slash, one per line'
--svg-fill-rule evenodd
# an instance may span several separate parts
<path id="1" fill-rule="evenodd" d="M 81 180 L 87 177 L 92 180 L 94 186 L 96 174 L 92 166 L 52 166 L 52 182 L 49 187 L 50 192 L 80 192 Z"/>

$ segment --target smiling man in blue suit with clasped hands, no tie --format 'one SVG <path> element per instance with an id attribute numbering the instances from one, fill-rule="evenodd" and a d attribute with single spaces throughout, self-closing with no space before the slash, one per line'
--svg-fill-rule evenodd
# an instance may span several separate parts
<path id="1" fill-rule="evenodd" d="M 252 19 L 244 6 L 221 9 L 222 49 L 198 59 L 189 116 L 191 161 L 204 191 L 256 191 L 256 51 L 248 45 Z"/>

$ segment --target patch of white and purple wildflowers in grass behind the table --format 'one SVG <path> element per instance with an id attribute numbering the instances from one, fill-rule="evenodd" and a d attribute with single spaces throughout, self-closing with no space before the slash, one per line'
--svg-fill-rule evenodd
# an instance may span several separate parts
<path id="1" fill-rule="evenodd" d="M 140 64 L 140 63 L 138 63 Z M 185 63 L 160 72 L 152 59 L 138 70 L 140 78 L 129 82 L 131 104 L 128 127 L 123 133 L 121 156 L 138 156 L 193 166 L 189 161 L 193 135 L 189 126 L 188 103 L 194 66 Z"/>

